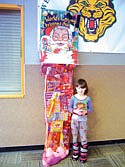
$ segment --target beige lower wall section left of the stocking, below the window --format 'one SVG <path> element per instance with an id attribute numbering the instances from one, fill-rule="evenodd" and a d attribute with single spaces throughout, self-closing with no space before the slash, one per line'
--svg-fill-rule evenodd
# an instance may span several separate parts
<path id="1" fill-rule="evenodd" d="M 25 97 L 0 99 L 0 146 L 43 144 L 44 79 L 38 65 L 27 65 L 25 71 Z"/>

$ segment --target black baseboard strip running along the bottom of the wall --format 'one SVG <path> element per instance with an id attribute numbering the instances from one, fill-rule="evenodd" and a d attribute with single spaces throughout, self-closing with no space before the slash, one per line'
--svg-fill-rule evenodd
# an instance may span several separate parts
<path id="1" fill-rule="evenodd" d="M 120 143 L 125 143 L 125 139 L 92 141 L 92 142 L 88 142 L 88 145 L 98 146 L 98 145 L 120 144 Z M 70 144 L 70 147 L 72 147 L 72 143 Z M 33 150 L 43 150 L 43 149 L 44 149 L 44 145 L 12 146 L 12 147 L 0 147 L 0 152 L 33 151 Z"/>

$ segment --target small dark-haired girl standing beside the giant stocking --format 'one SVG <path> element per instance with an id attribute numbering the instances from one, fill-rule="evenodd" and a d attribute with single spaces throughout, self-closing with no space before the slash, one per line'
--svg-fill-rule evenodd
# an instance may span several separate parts
<path id="1" fill-rule="evenodd" d="M 92 112 L 92 102 L 88 93 L 87 82 L 84 79 L 78 80 L 76 85 L 76 94 L 71 97 L 69 102 L 69 111 L 72 113 L 71 131 L 73 138 L 72 160 L 78 160 L 85 163 L 87 160 L 87 115 Z M 81 145 L 79 148 L 78 133 L 80 134 Z"/>

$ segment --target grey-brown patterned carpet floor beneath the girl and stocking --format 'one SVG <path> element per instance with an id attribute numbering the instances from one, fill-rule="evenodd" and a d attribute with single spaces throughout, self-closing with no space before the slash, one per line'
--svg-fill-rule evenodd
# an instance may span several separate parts
<path id="1" fill-rule="evenodd" d="M 43 167 L 43 150 L 0 153 L 0 167 Z M 125 143 L 90 146 L 85 164 L 67 158 L 53 167 L 125 167 Z"/>

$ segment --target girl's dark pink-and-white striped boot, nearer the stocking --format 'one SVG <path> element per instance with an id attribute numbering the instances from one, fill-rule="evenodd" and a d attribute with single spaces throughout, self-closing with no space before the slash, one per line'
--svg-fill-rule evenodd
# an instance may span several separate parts
<path id="1" fill-rule="evenodd" d="M 72 160 L 77 161 L 79 158 L 79 143 L 73 144 L 73 154 L 72 154 Z"/>

